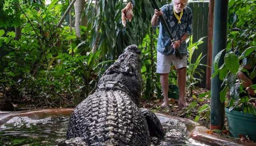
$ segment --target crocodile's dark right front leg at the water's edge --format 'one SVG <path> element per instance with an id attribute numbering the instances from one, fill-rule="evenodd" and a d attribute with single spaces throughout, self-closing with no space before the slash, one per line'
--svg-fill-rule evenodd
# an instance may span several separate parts
<path id="1" fill-rule="evenodd" d="M 140 111 L 147 120 L 149 135 L 158 138 L 164 136 L 164 128 L 162 127 L 162 124 L 157 118 L 156 114 L 148 109 L 141 108 Z"/>

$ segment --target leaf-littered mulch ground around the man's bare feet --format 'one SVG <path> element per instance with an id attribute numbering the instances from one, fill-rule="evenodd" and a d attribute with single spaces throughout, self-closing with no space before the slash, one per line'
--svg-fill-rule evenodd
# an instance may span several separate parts
<path id="1" fill-rule="evenodd" d="M 190 95 L 190 91 L 186 90 L 186 102 L 188 103 L 188 107 L 186 108 L 183 107 L 182 109 L 179 108 L 178 99 L 172 99 L 172 98 L 169 98 L 168 108 L 161 107 L 163 97 L 161 97 L 161 99 L 156 99 L 156 98 L 150 99 L 150 100 L 143 99 L 141 101 L 141 104 L 143 108 L 150 109 L 153 112 L 159 112 L 162 114 L 188 118 L 191 120 L 195 120 L 196 118 L 197 122 L 209 128 L 209 125 L 210 125 L 209 91 L 206 89 L 197 88 L 197 89 L 194 89 L 192 93 L 193 94 Z M 202 110 L 199 110 L 200 107 L 202 106 L 203 106 Z"/>

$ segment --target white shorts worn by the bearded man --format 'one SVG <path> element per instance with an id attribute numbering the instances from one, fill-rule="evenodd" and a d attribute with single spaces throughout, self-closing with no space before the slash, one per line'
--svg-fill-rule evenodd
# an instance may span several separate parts
<path id="1" fill-rule="evenodd" d="M 187 57 L 183 56 L 182 59 L 173 55 L 163 55 L 157 51 L 156 73 L 170 73 L 171 63 L 175 65 L 176 69 L 187 67 Z"/>

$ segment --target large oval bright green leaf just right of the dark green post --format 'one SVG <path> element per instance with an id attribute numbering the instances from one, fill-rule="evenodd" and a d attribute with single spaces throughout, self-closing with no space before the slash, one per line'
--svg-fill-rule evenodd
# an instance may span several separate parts
<path id="1" fill-rule="evenodd" d="M 234 52 L 228 52 L 226 53 L 224 57 L 224 62 L 228 70 L 230 70 L 231 73 L 237 73 L 239 69 L 239 60 L 238 56 Z"/>

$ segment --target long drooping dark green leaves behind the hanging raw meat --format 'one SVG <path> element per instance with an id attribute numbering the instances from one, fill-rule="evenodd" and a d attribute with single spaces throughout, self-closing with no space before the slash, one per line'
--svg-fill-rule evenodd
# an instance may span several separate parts
<path id="1" fill-rule="evenodd" d="M 98 43 L 103 60 L 116 59 L 126 46 L 141 44 L 149 30 L 149 20 L 154 12 L 150 0 L 135 1 L 134 18 L 126 28 L 121 22 L 121 10 L 125 5 L 123 0 L 100 0 L 96 4 L 86 4 L 85 15 L 92 30 L 90 47 Z"/>

